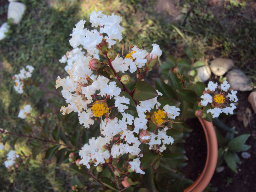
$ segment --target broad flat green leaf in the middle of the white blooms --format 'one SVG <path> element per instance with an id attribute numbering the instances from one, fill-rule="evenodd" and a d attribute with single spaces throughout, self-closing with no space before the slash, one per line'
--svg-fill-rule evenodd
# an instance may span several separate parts
<path id="1" fill-rule="evenodd" d="M 145 101 L 157 97 L 157 95 L 157 91 L 151 84 L 139 81 L 136 83 L 133 99 L 136 101 Z"/>

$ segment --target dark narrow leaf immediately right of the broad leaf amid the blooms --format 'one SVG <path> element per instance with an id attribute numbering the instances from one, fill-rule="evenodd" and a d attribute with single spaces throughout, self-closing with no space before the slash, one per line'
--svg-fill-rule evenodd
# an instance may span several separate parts
<path id="1" fill-rule="evenodd" d="M 177 99 L 177 95 L 172 89 L 172 87 L 167 85 L 162 79 L 154 79 L 154 83 L 155 88 L 163 94 L 162 97 L 167 97 L 174 100 Z"/>

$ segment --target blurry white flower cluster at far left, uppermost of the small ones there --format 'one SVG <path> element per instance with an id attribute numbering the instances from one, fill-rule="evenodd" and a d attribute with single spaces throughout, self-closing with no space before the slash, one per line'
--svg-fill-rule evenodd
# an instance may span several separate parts
<path id="1" fill-rule="evenodd" d="M 24 87 L 24 82 L 27 78 L 31 77 L 31 73 L 34 71 L 34 67 L 31 65 L 27 65 L 25 70 L 24 68 L 20 70 L 19 74 L 15 74 L 12 79 L 15 82 L 14 89 L 17 91 L 19 94 L 23 93 L 23 87 Z"/>

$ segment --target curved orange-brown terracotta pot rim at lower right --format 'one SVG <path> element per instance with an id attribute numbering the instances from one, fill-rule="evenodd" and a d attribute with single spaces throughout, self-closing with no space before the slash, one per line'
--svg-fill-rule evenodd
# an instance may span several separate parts
<path id="1" fill-rule="evenodd" d="M 218 158 L 218 143 L 213 124 L 201 118 L 198 118 L 206 136 L 207 143 L 207 158 L 204 169 L 197 180 L 184 192 L 202 192 L 209 184 L 212 175 L 214 174 L 217 158 Z"/>

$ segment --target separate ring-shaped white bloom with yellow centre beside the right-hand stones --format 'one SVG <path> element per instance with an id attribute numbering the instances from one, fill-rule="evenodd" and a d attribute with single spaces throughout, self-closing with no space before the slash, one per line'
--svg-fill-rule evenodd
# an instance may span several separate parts
<path id="1" fill-rule="evenodd" d="M 208 109 L 207 113 L 211 113 L 212 117 L 218 117 L 219 114 L 233 114 L 233 110 L 236 109 L 234 103 L 230 102 L 237 102 L 238 98 L 236 96 L 237 91 L 231 90 L 231 94 L 226 94 L 225 92 L 228 91 L 230 84 L 227 83 L 225 80 L 221 84 L 221 91 L 218 94 L 215 94 L 214 91 L 217 89 L 218 84 L 209 82 L 208 87 L 206 87 L 204 94 L 201 96 L 203 99 L 201 101 L 202 106 L 207 106 L 208 103 L 211 103 L 212 109 Z M 212 96 L 214 94 L 214 96 Z M 228 103 L 229 101 L 229 103 Z M 230 106 L 228 106 L 230 105 Z"/>

